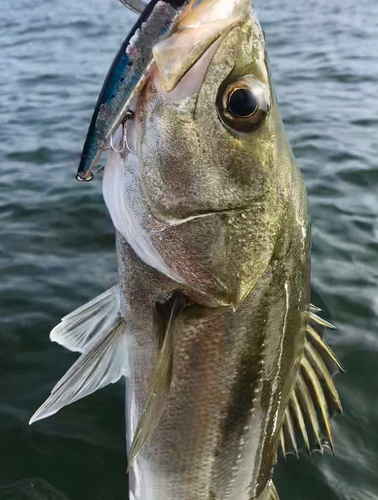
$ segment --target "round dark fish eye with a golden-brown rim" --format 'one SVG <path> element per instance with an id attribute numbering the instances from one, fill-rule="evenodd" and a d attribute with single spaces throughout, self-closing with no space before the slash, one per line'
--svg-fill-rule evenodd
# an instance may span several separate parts
<path id="1" fill-rule="evenodd" d="M 218 115 L 231 132 L 249 134 L 257 130 L 269 108 L 269 87 L 252 75 L 222 85 L 219 89 Z"/>

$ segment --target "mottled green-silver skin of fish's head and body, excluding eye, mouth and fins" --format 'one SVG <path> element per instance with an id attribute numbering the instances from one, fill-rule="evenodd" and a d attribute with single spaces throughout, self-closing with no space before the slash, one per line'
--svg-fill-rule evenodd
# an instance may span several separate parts
<path id="1" fill-rule="evenodd" d="M 238 136 L 216 101 L 225 81 L 248 74 L 269 85 L 271 107 L 258 130 Z M 143 200 L 142 226 L 184 284 L 146 265 L 117 232 L 133 342 L 128 449 L 158 352 L 155 304 L 181 291 L 189 306 L 175 322 L 164 414 L 129 471 L 130 498 L 276 498 L 271 472 L 308 321 L 310 235 L 252 7 L 224 34 L 199 92 L 170 102 L 151 79 L 137 117 L 137 156 L 124 162 L 139 172 L 129 203 L 138 210 Z M 152 231 L 159 224 L 164 231 Z"/>

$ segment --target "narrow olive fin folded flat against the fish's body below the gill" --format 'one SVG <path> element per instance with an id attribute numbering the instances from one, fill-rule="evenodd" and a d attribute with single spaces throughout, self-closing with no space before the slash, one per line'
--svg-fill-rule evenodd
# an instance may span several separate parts
<path id="1" fill-rule="evenodd" d="M 129 452 L 128 467 L 132 467 L 141 449 L 149 441 L 153 431 L 156 429 L 165 410 L 165 404 L 171 388 L 173 375 L 173 353 L 174 353 L 174 323 L 177 316 L 186 305 L 185 297 L 181 293 L 172 296 L 169 305 L 169 317 L 167 321 L 164 342 L 160 350 L 150 390 L 143 406 L 142 415 L 139 419 L 137 429 Z"/>

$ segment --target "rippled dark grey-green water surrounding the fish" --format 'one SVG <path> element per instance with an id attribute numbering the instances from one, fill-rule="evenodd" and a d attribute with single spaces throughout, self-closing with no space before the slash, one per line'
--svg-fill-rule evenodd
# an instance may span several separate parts
<path id="1" fill-rule="evenodd" d="M 280 459 L 275 481 L 281 500 L 378 500 L 378 2 L 255 4 L 310 198 L 313 302 L 347 370 L 336 456 Z M 74 174 L 134 21 L 117 0 L 1 0 L 0 500 L 127 499 L 122 384 L 28 420 L 77 357 L 51 328 L 116 281 L 101 176 Z"/>

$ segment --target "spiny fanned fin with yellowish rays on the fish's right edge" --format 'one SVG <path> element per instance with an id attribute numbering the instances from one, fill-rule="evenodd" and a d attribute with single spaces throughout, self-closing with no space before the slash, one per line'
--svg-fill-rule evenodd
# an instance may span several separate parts
<path id="1" fill-rule="evenodd" d="M 317 308 L 310 305 L 308 316 L 312 321 L 335 329 L 331 323 L 316 316 L 315 311 L 318 312 Z M 279 443 L 284 455 L 288 452 L 294 452 L 298 456 L 294 427 L 301 434 L 305 448 L 309 453 L 314 444 L 316 449 L 323 452 L 325 443 L 328 443 L 334 451 L 331 417 L 341 413 L 342 406 L 332 380 L 330 365 L 336 366 L 344 372 L 332 349 L 309 324 L 304 352 L 300 360 L 300 369 L 290 394 L 288 406 L 285 409 L 283 426 L 280 430 Z M 321 423 L 317 410 L 321 416 Z M 311 430 L 312 439 L 310 439 L 309 430 Z"/>

